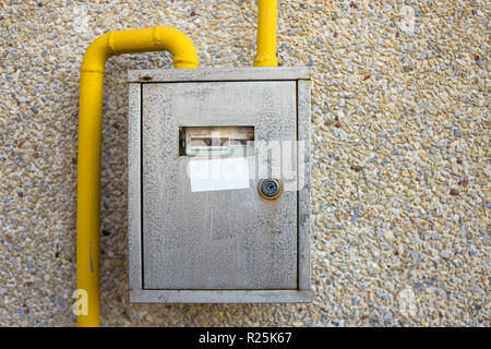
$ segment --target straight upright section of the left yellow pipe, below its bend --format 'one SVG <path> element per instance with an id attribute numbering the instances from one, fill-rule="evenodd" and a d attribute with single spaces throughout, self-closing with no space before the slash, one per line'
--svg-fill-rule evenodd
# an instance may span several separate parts
<path id="1" fill-rule="evenodd" d="M 76 288 L 84 291 L 86 315 L 79 326 L 99 326 L 99 203 L 104 73 L 83 72 L 79 111 L 76 202 Z"/>

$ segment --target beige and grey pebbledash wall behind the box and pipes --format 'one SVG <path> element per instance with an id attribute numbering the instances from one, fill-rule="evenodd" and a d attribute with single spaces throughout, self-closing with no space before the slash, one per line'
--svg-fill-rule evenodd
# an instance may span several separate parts
<path id="1" fill-rule="evenodd" d="M 129 69 L 106 65 L 101 318 L 110 326 L 489 326 L 489 1 L 280 1 L 313 65 L 311 304 L 130 304 Z M 73 326 L 79 69 L 112 29 L 175 26 L 251 65 L 255 1 L 0 3 L 0 325 Z"/>

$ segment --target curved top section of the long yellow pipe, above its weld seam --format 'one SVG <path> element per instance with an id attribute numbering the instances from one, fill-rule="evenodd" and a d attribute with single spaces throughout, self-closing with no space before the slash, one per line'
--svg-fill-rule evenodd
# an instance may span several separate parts
<path id="1" fill-rule="evenodd" d="M 97 37 L 85 51 L 81 71 L 104 73 L 109 57 L 122 53 L 169 51 L 173 68 L 197 68 L 197 52 L 192 40 L 169 26 L 115 31 Z"/>

